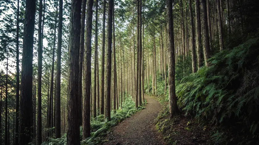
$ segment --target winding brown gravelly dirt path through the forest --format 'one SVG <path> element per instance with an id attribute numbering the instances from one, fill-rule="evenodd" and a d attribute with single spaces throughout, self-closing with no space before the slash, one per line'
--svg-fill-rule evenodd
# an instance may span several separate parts
<path id="1" fill-rule="evenodd" d="M 104 145 L 163 145 L 162 135 L 155 130 L 154 119 L 162 106 L 149 96 L 146 108 L 113 127 Z"/>

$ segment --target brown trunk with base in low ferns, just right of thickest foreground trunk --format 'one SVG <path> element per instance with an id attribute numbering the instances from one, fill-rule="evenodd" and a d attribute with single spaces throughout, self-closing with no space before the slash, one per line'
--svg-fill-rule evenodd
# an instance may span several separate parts
<path id="1" fill-rule="evenodd" d="M 90 135 L 90 97 L 91 97 L 91 53 L 92 53 L 92 6 L 93 0 L 87 3 L 86 38 L 84 51 L 84 105 L 83 105 L 83 139 Z"/>

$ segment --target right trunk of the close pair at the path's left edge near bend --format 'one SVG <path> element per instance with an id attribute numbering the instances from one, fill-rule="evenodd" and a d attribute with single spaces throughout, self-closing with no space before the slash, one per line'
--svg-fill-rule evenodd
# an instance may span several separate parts
<path id="1" fill-rule="evenodd" d="M 139 18 L 139 24 L 138 24 L 138 55 L 139 55 L 139 58 L 137 59 L 138 60 L 138 67 L 139 67 L 139 72 L 138 72 L 138 104 L 141 105 L 142 104 L 142 98 L 141 98 L 141 62 L 142 62 L 142 0 L 139 0 L 139 6 L 138 6 L 138 11 L 139 11 L 139 14 L 138 14 L 138 18 Z"/>

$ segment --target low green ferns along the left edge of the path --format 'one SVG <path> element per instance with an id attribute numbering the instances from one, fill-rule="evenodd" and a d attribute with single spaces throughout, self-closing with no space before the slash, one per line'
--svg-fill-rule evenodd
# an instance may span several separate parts
<path id="1" fill-rule="evenodd" d="M 81 144 L 85 145 L 94 145 L 100 144 L 102 138 L 109 133 L 111 127 L 116 126 L 122 120 L 132 116 L 136 112 L 145 108 L 146 100 L 139 106 L 135 108 L 135 103 L 131 100 L 131 97 L 126 97 L 125 102 L 122 104 L 122 109 L 117 110 L 116 112 L 111 112 L 111 121 L 104 119 L 104 115 L 97 116 L 91 122 L 91 136 L 87 139 L 81 141 Z M 82 127 L 80 127 L 80 138 L 82 139 Z M 64 134 L 61 138 L 54 139 L 48 138 L 47 142 L 42 143 L 42 145 L 66 145 L 67 136 Z"/>

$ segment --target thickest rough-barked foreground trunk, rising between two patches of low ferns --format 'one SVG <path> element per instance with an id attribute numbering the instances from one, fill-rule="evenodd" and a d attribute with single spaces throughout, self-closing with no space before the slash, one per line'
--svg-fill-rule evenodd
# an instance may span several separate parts
<path id="1" fill-rule="evenodd" d="M 80 144 L 79 114 L 78 114 L 78 74 L 80 51 L 80 15 L 81 0 L 72 0 L 68 52 L 68 145 Z M 91 7 L 89 7 L 91 10 Z M 91 17 L 92 19 L 92 17 Z M 91 22 L 92 25 L 92 22 Z M 92 27 L 91 27 L 92 28 Z M 85 59 L 86 60 L 86 59 Z M 86 77 L 87 78 L 87 77 Z"/>

